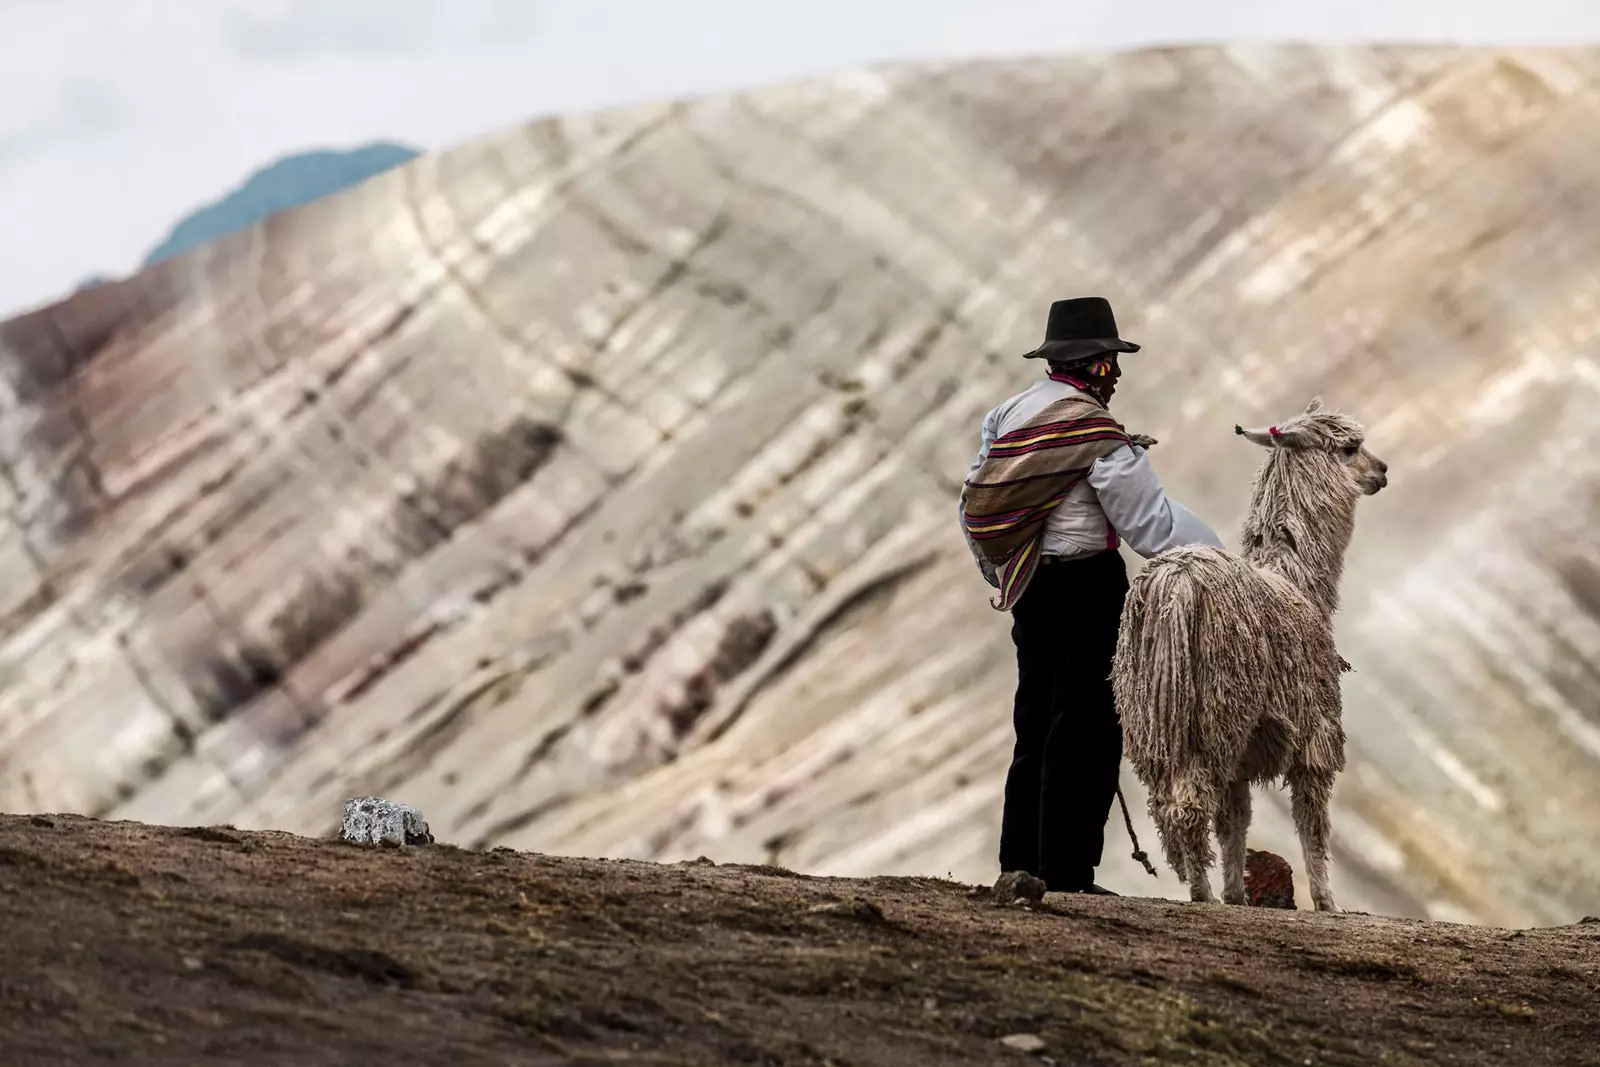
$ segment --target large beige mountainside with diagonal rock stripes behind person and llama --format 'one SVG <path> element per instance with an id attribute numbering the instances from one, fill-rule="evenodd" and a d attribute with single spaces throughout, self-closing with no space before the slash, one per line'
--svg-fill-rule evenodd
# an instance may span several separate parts
<path id="1" fill-rule="evenodd" d="M 987 880 L 1013 665 L 954 496 L 1048 301 L 1104 293 L 1120 413 L 1229 536 L 1235 422 L 1318 392 L 1392 464 L 1341 902 L 1600 910 L 1597 72 L 1206 48 L 552 118 L 5 323 L 0 808 L 379 793 L 458 843 Z"/>

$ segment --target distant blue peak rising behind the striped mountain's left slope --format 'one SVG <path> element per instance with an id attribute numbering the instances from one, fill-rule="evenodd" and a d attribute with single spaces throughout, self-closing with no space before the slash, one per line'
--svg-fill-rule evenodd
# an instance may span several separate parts
<path id="1" fill-rule="evenodd" d="M 173 227 L 144 266 L 170 259 L 224 234 L 254 226 L 277 211 L 320 200 L 387 170 L 414 160 L 421 152 L 379 141 L 347 152 L 315 150 L 286 155 L 245 179 L 216 203 L 195 210 Z"/>

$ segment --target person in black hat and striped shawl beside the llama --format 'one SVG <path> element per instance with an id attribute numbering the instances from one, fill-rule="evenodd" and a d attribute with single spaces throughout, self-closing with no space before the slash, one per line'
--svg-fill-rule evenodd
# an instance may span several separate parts
<path id="1" fill-rule="evenodd" d="M 1166 498 L 1146 448 L 1107 411 L 1117 336 L 1098 296 L 1056 301 L 1045 378 L 984 418 L 982 446 L 962 490 L 962 530 L 992 601 L 1011 611 L 1016 749 L 1005 784 L 1000 870 L 1027 872 L 1053 893 L 1101 893 L 1106 819 L 1122 766 L 1110 661 L 1128 593 L 1122 541 L 1149 558 L 1182 544 L 1222 542 Z"/>

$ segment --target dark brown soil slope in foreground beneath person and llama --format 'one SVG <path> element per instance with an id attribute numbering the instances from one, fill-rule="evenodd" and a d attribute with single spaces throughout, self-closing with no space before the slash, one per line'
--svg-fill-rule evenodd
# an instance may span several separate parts
<path id="1" fill-rule="evenodd" d="M 0 817 L 0 1064 L 1600 1064 L 1600 923 Z M 1037 1051 L 1002 1038 L 1034 1035 Z"/>

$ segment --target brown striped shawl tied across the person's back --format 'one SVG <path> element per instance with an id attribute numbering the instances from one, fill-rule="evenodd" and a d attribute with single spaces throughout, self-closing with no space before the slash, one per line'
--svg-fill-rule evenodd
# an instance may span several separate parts
<path id="1" fill-rule="evenodd" d="M 962 488 L 962 515 L 979 555 L 998 568 L 998 611 L 1010 611 L 1038 568 L 1045 520 L 1096 459 L 1130 443 L 1106 408 L 1064 397 L 995 438 Z"/>

